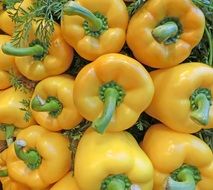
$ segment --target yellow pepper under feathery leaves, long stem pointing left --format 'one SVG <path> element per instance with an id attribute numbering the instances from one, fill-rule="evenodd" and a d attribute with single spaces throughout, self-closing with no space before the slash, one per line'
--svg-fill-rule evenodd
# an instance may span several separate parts
<path id="1" fill-rule="evenodd" d="M 37 25 L 33 23 L 32 31 L 35 32 L 36 28 Z M 72 62 L 73 49 L 63 39 L 58 24 L 54 25 L 54 29 L 48 50 L 46 44 L 33 39 L 30 47 L 17 48 L 11 43 L 5 43 L 2 45 L 2 51 L 17 56 L 15 58 L 17 69 L 30 80 L 39 81 L 48 76 L 61 74 Z"/>

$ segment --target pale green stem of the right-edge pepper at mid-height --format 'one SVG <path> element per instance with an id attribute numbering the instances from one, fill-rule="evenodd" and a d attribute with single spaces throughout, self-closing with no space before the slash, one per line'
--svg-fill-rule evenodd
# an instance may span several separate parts
<path id="1" fill-rule="evenodd" d="M 191 119 L 198 122 L 201 125 L 207 125 L 209 121 L 210 103 L 205 94 L 197 94 L 194 99 L 197 109 L 190 113 Z"/>

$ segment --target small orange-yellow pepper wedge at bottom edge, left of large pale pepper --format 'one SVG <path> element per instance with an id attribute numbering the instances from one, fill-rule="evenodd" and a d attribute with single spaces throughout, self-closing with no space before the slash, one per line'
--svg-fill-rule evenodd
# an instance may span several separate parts
<path id="1" fill-rule="evenodd" d="M 50 190 L 80 190 L 71 172 L 57 181 Z"/>

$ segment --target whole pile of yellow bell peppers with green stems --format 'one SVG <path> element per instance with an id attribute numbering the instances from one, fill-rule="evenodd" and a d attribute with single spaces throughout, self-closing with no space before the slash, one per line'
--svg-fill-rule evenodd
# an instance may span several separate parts
<path id="1" fill-rule="evenodd" d="M 191 0 L 148 0 L 131 18 L 123 0 L 68 1 L 48 49 L 35 37 L 36 22 L 27 46 L 14 46 L 7 1 L 0 3 L 3 190 L 213 189 L 212 150 L 193 135 L 213 128 L 213 68 L 184 62 L 205 27 Z M 121 53 L 124 44 L 132 57 Z M 77 76 L 66 72 L 74 54 L 89 62 Z M 158 123 L 138 143 L 126 130 L 143 112 Z M 85 120 L 74 150 L 64 132 Z"/>

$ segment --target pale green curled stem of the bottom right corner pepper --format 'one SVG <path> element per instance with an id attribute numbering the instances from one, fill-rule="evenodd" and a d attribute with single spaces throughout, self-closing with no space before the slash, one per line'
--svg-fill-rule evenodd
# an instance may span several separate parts
<path id="1" fill-rule="evenodd" d="M 167 181 L 167 190 L 195 190 L 196 182 L 194 180 L 193 172 L 189 169 L 183 169 L 177 175 L 178 181 L 171 177 Z"/>

